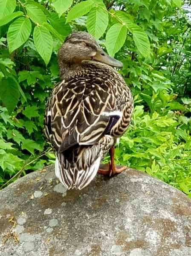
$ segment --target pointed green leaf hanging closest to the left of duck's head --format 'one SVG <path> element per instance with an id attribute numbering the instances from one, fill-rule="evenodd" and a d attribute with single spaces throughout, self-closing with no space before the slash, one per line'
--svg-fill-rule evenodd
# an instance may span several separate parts
<path id="1" fill-rule="evenodd" d="M 33 33 L 35 47 L 38 53 L 43 58 L 45 64 L 49 63 L 50 57 L 52 55 L 53 40 L 52 35 L 49 33 L 48 29 L 44 26 L 35 26 Z"/>

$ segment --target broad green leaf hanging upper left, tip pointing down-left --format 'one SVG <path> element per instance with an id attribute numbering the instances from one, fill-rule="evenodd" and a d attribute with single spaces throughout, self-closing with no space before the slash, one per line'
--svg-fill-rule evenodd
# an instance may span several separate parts
<path id="1" fill-rule="evenodd" d="M 14 20 L 7 32 L 9 52 L 13 52 L 26 42 L 31 33 L 31 22 L 29 18 L 20 17 Z"/>

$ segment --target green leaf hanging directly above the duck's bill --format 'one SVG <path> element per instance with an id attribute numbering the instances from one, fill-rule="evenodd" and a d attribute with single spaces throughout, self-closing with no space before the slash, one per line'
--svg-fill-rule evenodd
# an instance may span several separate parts
<path id="1" fill-rule="evenodd" d="M 122 24 L 116 23 L 108 30 L 106 34 L 106 48 L 113 57 L 119 49 L 122 48 L 127 35 L 127 28 Z"/>

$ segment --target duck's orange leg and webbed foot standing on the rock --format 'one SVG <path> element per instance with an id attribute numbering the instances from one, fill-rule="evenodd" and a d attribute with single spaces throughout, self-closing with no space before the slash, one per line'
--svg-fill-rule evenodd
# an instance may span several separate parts
<path id="1" fill-rule="evenodd" d="M 127 169 L 126 166 L 116 166 L 115 165 L 114 152 L 115 152 L 115 148 L 111 147 L 109 150 L 111 162 L 107 163 L 105 165 L 100 165 L 101 168 L 98 169 L 98 173 L 103 174 L 103 175 L 112 176 L 112 175 L 121 173 Z"/>

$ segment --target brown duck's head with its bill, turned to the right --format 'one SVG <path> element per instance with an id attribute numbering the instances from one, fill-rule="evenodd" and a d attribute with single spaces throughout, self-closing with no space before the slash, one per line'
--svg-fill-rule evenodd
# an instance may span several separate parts
<path id="1" fill-rule="evenodd" d="M 90 34 L 87 32 L 73 32 L 59 50 L 59 65 L 60 67 L 63 64 L 81 65 L 85 60 L 102 62 L 113 67 L 123 66 L 121 61 L 107 55 Z"/>

